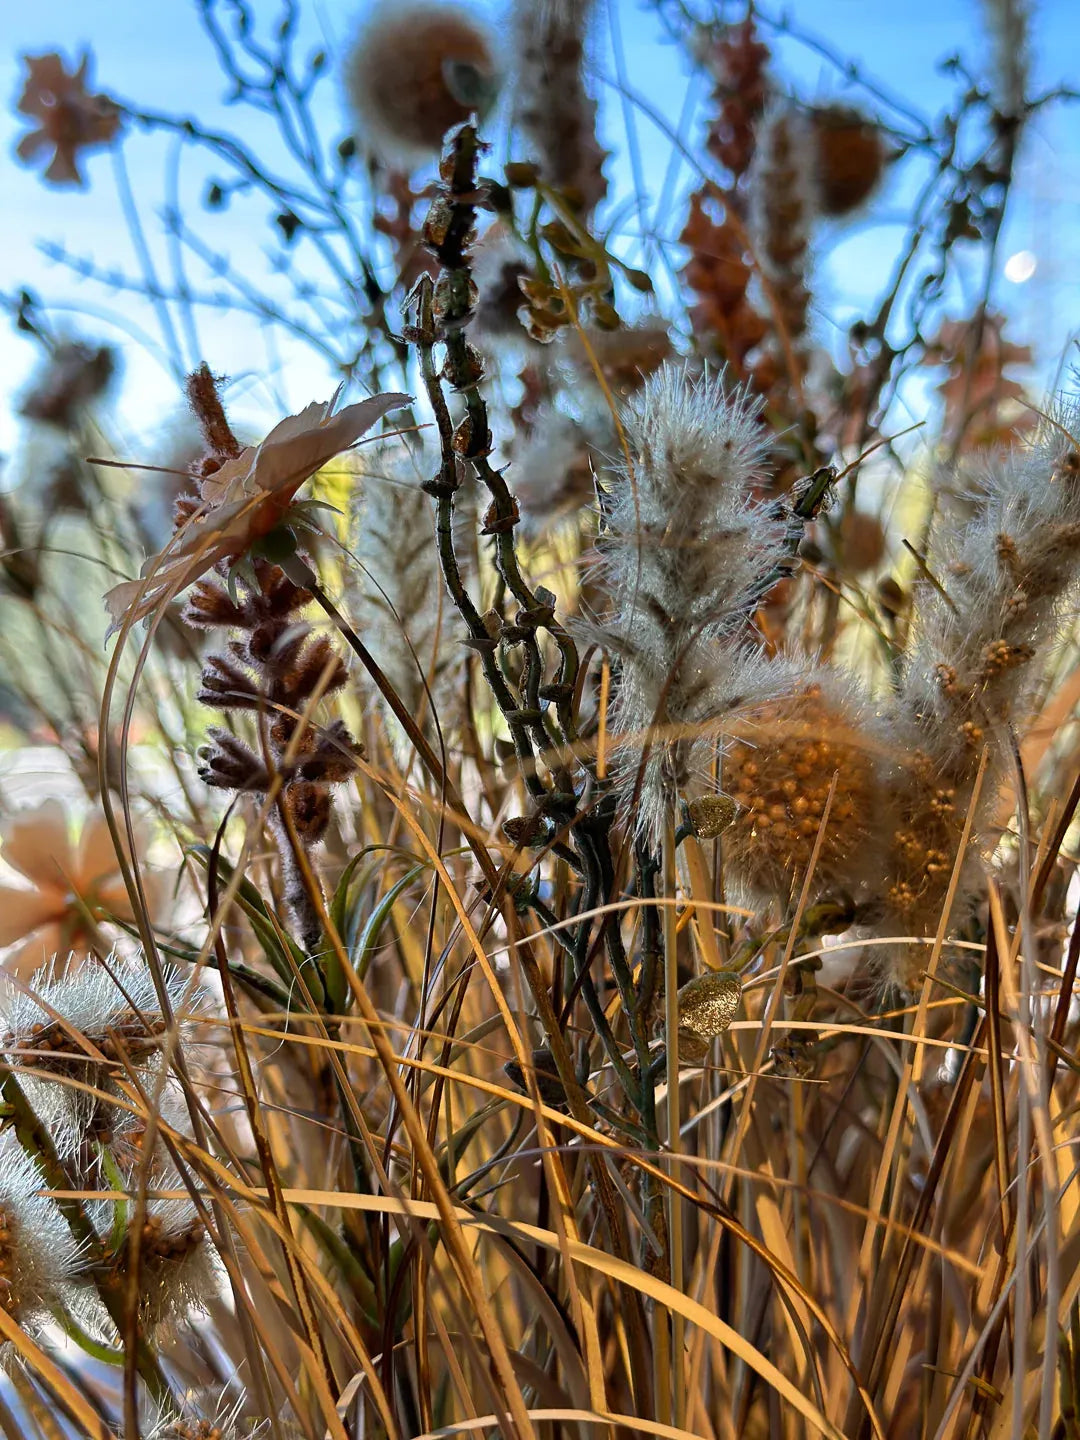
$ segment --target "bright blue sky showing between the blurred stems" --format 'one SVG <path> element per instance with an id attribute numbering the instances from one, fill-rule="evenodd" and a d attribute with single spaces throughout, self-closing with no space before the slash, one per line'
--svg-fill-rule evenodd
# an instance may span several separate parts
<path id="1" fill-rule="evenodd" d="M 632 89 L 665 114 L 674 124 L 685 91 L 681 59 L 662 42 L 652 12 L 639 0 L 609 0 L 618 6 L 618 30 L 625 49 L 625 72 Z M 255 0 L 259 20 L 272 23 L 276 4 Z M 324 46 L 331 60 L 347 45 L 363 6 L 337 0 L 308 0 L 305 36 L 311 48 Z M 494 10 L 491 4 L 485 9 Z M 95 55 L 95 82 L 148 108 L 194 114 L 203 122 L 239 127 L 255 148 L 268 138 L 268 122 L 251 111 L 223 105 L 223 81 L 212 49 L 199 26 L 192 0 L 40 0 L 35 6 L 3 0 L 4 26 L 0 53 L 0 96 L 9 102 L 20 85 L 22 52 L 60 49 L 73 56 L 86 45 Z M 831 48 L 858 60 L 868 75 L 888 91 L 903 95 L 927 115 L 940 109 L 952 92 L 952 81 L 940 76 L 936 60 L 962 52 L 972 66 L 986 69 L 989 46 L 982 6 L 976 0 L 907 0 L 904 6 L 884 0 L 798 0 L 789 7 L 796 24 Z M 598 49 L 598 66 L 611 82 L 613 60 L 606 35 Z M 783 42 L 780 69 L 792 76 L 805 98 L 844 94 L 842 78 L 812 50 Z M 1043 0 L 1035 20 L 1035 75 L 1040 82 L 1080 84 L 1080 19 L 1076 0 Z M 603 125 L 618 144 L 625 134 L 622 107 L 611 84 L 603 89 Z M 344 112 L 337 86 L 328 82 L 318 105 L 325 128 L 344 132 Z M 670 144 L 638 115 L 645 187 L 655 204 L 667 171 Z M 85 255 L 125 272 L 137 271 L 130 236 L 117 202 L 112 161 L 108 154 L 89 157 L 91 187 L 86 192 L 53 190 L 12 158 L 20 125 L 10 111 L 0 115 L 0 193 L 6 197 L 4 245 L 0 288 L 27 285 L 46 301 L 72 307 L 66 314 L 72 328 L 91 337 L 118 343 L 125 382 L 117 412 L 117 441 L 145 445 L 164 419 L 176 413 L 179 397 L 167 370 L 137 340 L 109 324 L 104 315 L 121 314 L 125 324 L 156 334 L 148 307 L 99 287 L 79 282 L 45 259 L 40 240 L 59 243 L 69 253 Z M 131 189 L 154 255 L 164 261 L 158 242 L 157 216 L 166 203 L 163 176 L 168 147 L 160 138 L 132 134 L 124 145 Z M 621 173 L 621 177 L 625 171 Z M 685 176 L 684 176 L 685 179 Z M 229 253 L 246 276 L 271 278 L 272 249 L 264 206 L 236 204 L 223 213 L 206 215 L 199 199 L 206 168 L 184 160 L 180 196 L 203 238 Z M 907 219 L 910 190 L 886 196 L 874 215 L 854 232 L 825 236 L 818 265 L 819 310 L 841 317 L 877 294 L 897 236 Z M 667 222 L 677 233 L 680 210 Z M 1028 135 L 1020 183 L 1015 192 L 1002 258 L 1031 251 L 1037 261 L 1024 285 L 1004 281 L 996 301 L 1015 315 L 1015 338 L 1032 343 L 1041 373 L 1048 373 L 1071 333 L 1080 325 L 1080 276 L 1074 255 L 1080 242 L 1080 107 L 1058 108 L 1040 120 Z M 271 281 L 272 282 L 272 281 Z M 85 311 L 79 314 L 79 311 Z M 63 318 L 63 312 L 60 312 Z M 824 324 L 824 321 L 822 321 Z M 252 425 L 269 418 L 281 405 L 302 405 L 333 389 L 333 380 L 308 350 L 288 344 L 265 348 L 255 324 L 217 312 L 200 317 L 199 347 L 212 367 L 238 374 L 266 374 L 272 380 L 252 382 L 243 403 Z M 0 328 L 0 451 L 17 442 L 12 415 L 13 396 L 24 383 L 35 350 L 12 328 Z"/>

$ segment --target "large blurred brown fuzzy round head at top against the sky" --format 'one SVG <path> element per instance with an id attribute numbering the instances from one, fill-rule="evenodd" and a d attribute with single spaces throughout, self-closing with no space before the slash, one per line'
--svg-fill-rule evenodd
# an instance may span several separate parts
<path id="1" fill-rule="evenodd" d="M 350 46 L 344 86 L 359 138 L 387 166 L 415 168 L 491 107 L 494 36 L 461 6 L 379 0 Z"/>

